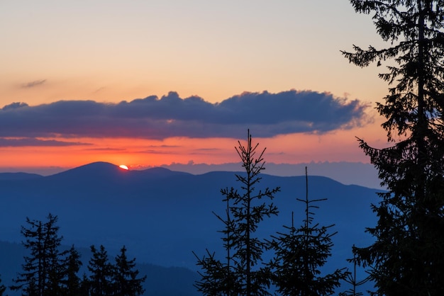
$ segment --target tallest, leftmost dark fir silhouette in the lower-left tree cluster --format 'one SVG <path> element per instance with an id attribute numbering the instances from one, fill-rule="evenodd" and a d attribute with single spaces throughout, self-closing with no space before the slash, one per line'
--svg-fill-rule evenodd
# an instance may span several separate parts
<path id="1" fill-rule="evenodd" d="M 11 290 L 22 290 L 23 295 L 51 296 L 61 295 L 64 268 L 61 260 L 65 251 L 59 251 L 60 241 L 56 226 L 57 216 L 49 214 L 47 222 L 26 218 L 28 228 L 21 228 L 26 238 L 23 246 L 30 251 L 22 264 L 23 272 L 13 280 Z"/>

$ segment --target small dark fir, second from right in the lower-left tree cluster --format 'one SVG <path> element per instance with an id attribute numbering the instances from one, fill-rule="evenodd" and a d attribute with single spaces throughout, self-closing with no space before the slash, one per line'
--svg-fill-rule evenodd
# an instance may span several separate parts
<path id="1" fill-rule="evenodd" d="M 88 270 L 88 290 L 90 296 L 108 296 L 113 295 L 113 266 L 109 263 L 108 253 L 104 246 L 97 250 L 93 245 L 90 247 L 92 257 L 89 260 Z"/>

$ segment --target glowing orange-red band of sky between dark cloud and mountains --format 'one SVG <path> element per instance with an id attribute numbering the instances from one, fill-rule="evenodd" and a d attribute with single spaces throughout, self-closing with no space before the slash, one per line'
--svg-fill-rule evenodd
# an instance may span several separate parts
<path id="1" fill-rule="evenodd" d="M 245 132 L 246 135 L 246 132 Z M 363 137 L 370 145 L 387 145 L 380 140 L 384 132 L 378 124 L 326 134 L 292 134 L 272 138 L 255 138 L 259 148 L 267 148 L 267 163 L 299 164 L 313 162 L 357 161 L 369 159 L 358 147 L 355 137 Z M 237 139 L 175 137 L 165 140 L 125 138 L 53 139 L 76 142 L 62 147 L 0 147 L 1 171 L 7 168 L 58 167 L 71 169 L 96 161 L 126 164 L 129 169 L 145 169 L 170 164 L 226 164 L 239 161 Z M 245 144 L 245 139 L 239 139 Z M 5 169 L 6 168 L 6 169 Z"/>

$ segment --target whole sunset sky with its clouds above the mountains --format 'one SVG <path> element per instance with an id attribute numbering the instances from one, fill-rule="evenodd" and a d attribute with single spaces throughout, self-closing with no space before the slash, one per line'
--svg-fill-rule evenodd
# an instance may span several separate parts
<path id="1" fill-rule="evenodd" d="M 348 0 L 1 0 L 0 38 L 0 171 L 233 163 L 248 129 L 275 164 L 387 145 Z"/>

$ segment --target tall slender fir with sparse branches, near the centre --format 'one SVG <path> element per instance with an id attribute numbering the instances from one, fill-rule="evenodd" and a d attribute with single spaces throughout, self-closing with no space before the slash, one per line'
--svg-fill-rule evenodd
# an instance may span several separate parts
<path id="1" fill-rule="evenodd" d="M 260 173 L 265 169 L 265 149 L 261 151 L 259 144 L 252 145 L 249 130 L 246 146 L 238 144 L 235 149 L 245 169 L 244 174 L 235 175 L 241 191 L 221 190 L 223 201 L 227 203 L 227 218 L 218 216 L 225 224 L 221 232 L 226 260 L 218 260 L 208 250 L 206 256 L 196 256 L 197 265 L 201 267 L 201 280 L 196 282 L 196 288 L 204 295 L 270 295 L 271 275 L 269 268 L 262 264 L 267 241 L 257 237 L 255 232 L 265 217 L 277 215 L 277 207 L 270 200 L 279 187 L 257 190 L 262 179 Z"/>

